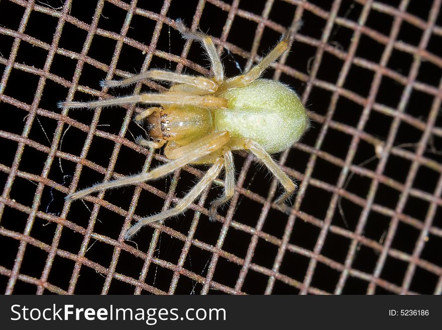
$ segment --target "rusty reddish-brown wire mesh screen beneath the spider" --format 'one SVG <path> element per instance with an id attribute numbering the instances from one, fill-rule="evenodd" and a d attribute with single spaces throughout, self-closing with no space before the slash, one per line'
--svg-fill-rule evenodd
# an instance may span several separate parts
<path id="1" fill-rule="evenodd" d="M 275 294 L 442 292 L 441 1 L 0 1 L 0 287 L 5 293 Z M 228 76 L 302 21 L 265 73 L 295 88 L 311 128 L 275 155 L 299 188 L 237 154 L 230 204 L 210 222 L 223 176 L 182 215 L 168 209 L 204 167 L 64 197 L 162 164 L 136 106 L 61 110 L 60 100 L 161 91 L 103 79 L 148 68 L 206 75 L 176 19 L 210 35 Z"/>

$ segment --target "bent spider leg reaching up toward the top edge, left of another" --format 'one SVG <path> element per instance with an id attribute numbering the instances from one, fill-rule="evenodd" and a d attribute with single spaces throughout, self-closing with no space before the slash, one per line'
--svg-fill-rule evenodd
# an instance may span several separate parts
<path id="1" fill-rule="evenodd" d="M 198 40 L 205 48 L 207 52 L 207 56 L 209 57 L 211 68 L 213 70 L 213 74 L 215 76 L 215 81 L 217 83 L 223 82 L 224 79 L 224 67 L 221 63 L 221 59 L 216 52 L 215 45 L 213 44 L 212 38 L 209 36 L 199 33 L 199 32 L 190 32 L 182 21 L 176 22 L 178 31 L 183 35 L 185 39 L 193 39 Z"/>

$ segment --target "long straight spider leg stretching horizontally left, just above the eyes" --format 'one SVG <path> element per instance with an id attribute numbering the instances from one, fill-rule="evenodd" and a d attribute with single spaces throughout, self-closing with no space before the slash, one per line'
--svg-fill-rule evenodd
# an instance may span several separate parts
<path id="1" fill-rule="evenodd" d="M 60 102 L 60 108 L 95 108 L 100 106 L 123 105 L 134 103 L 195 105 L 209 108 L 227 108 L 227 99 L 212 95 L 187 95 L 180 92 L 164 92 L 161 94 L 145 93 L 89 102 Z"/>

